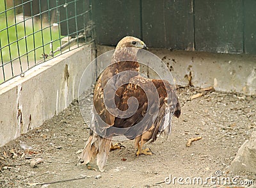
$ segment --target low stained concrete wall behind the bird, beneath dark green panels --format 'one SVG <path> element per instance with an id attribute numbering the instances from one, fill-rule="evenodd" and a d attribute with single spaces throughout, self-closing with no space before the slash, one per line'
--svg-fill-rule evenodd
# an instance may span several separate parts
<path id="1" fill-rule="evenodd" d="M 111 49 L 114 47 L 97 45 L 98 54 Z M 163 60 L 179 85 L 214 86 L 218 91 L 256 94 L 256 56 L 168 49 L 148 51 Z"/>

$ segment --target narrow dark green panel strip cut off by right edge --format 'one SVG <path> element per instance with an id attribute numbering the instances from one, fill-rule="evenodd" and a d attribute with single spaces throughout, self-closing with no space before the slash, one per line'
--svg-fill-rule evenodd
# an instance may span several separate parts
<path id="1" fill-rule="evenodd" d="M 256 1 L 244 1 L 244 52 L 256 54 Z"/>

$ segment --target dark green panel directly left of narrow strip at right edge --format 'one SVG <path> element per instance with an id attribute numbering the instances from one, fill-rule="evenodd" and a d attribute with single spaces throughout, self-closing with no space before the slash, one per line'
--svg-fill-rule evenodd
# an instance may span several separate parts
<path id="1" fill-rule="evenodd" d="M 195 49 L 243 52 L 243 1 L 195 0 Z"/>

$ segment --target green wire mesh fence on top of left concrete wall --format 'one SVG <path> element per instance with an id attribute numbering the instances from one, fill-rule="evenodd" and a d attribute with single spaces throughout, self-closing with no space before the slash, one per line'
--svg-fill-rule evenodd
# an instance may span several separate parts
<path id="1" fill-rule="evenodd" d="M 89 0 L 0 0 L 0 84 L 93 42 Z"/>

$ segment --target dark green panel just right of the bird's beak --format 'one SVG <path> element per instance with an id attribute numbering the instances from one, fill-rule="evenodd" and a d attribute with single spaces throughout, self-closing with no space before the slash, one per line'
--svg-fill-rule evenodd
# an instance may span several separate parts
<path id="1" fill-rule="evenodd" d="M 143 40 L 150 47 L 193 49 L 193 1 L 142 0 Z"/>

